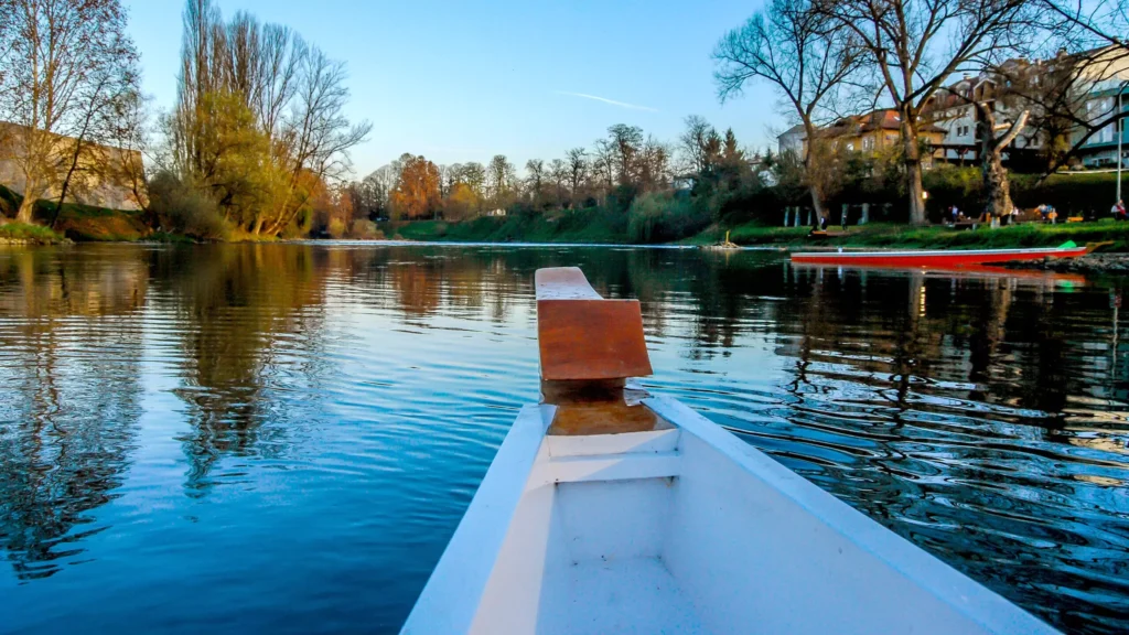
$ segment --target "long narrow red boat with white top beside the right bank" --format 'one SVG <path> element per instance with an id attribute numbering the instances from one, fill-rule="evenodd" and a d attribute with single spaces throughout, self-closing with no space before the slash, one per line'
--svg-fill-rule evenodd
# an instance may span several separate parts
<path id="1" fill-rule="evenodd" d="M 851 267 L 968 267 L 1047 258 L 1077 258 L 1087 247 L 1044 247 L 1009 250 L 920 250 L 920 251 L 816 251 L 791 254 L 804 264 L 848 264 Z"/>

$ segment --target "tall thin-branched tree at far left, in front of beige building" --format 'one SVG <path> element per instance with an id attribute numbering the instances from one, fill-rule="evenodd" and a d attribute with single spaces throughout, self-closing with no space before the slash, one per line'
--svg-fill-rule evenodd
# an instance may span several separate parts
<path id="1" fill-rule="evenodd" d="M 60 136 L 105 112 L 120 96 L 106 86 L 133 72 L 137 53 L 119 0 L 5 0 L 0 23 L 0 120 L 17 127 L 6 146 L 24 181 L 17 218 L 29 223 L 67 169 Z"/>

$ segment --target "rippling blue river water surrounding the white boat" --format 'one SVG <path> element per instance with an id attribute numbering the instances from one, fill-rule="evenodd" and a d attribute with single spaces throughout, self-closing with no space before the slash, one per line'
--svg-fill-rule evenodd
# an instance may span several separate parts
<path id="1" fill-rule="evenodd" d="M 1129 630 L 1129 280 L 778 252 L 0 250 L 0 632 L 395 632 L 519 407 L 533 272 L 644 385 L 1070 632 Z"/>

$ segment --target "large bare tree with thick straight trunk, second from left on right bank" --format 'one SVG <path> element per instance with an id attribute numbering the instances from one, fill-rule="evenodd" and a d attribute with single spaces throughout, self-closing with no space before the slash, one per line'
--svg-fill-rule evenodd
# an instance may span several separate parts
<path id="1" fill-rule="evenodd" d="M 998 62 L 1032 36 L 1031 0 L 814 0 L 867 51 L 901 120 L 910 221 L 926 223 L 919 130 L 922 108 L 962 69 Z"/>

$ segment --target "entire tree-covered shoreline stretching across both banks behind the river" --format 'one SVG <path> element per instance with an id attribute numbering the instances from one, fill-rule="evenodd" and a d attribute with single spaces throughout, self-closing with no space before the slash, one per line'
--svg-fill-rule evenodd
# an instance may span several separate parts
<path id="1" fill-rule="evenodd" d="M 837 226 L 846 216 L 849 230 L 825 244 L 1075 240 L 1129 250 L 1129 223 L 1106 221 L 1115 175 L 1077 169 L 1087 140 L 1126 114 L 1080 116 L 1088 104 L 1076 95 L 1083 71 L 1099 62 L 1113 70 L 1087 75 L 1087 86 L 1129 75 L 1129 45 L 1118 36 L 1124 12 L 1099 19 L 1056 0 L 954 10 L 944 2 L 895 2 L 907 19 L 893 20 L 891 12 L 868 12 L 865 2 L 770 0 L 720 37 L 718 96 L 735 102 L 754 87 L 759 94 L 769 88 L 800 131 L 799 146 L 756 150 L 733 130 L 691 115 L 676 139 L 620 123 L 590 143 L 520 166 L 501 154 L 437 165 L 408 153 L 357 179 L 350 150 L 373 125 L 344 114 L 344 64 L 292 28 L 243 11 L 224 16 L 212 0 L 187 0 L 178 98 L 161 110 L 140 92 L 140 56 L 121 0 L 50 5 L 0 0 L 0 51 L 7 52 L 0 55 L 0 121 L 7 122 L 0 162 L 20 184 L 0 186 L 0 240 L 8 242 L 712 244 L 728 235 L 737 244 L 789 245 L 809 244 L 811 226 Z M 920 47 L 891 55 L 875 34 Z M 1041 72 L 1042 101 L 1032 90 L 1032 66 L 1012 63 L 1038 64 L 1040 56 L 1059 60 L 1047 68 L 1070 70 Z M 949 82 L 969 72 L 997 89 L 954 93 Z M 61 95 L 71 98 L 55 98 Z M 942 102 L 973 113 L 974 158 L 962 150 L 952 159 L 931 145 Z M 842 122 L 864 120 L 837 113 L 866 104 L 886 106 L 875 112 L 898 122 L 893 141 L 855 147 L 841 138 Z M 1041 141 L 1021 153 L 1012 145 L 1018 138 Z M 84 205 L 98 188 L 119 191 L 131 209 Z M 1041 205 L 1057 208 L 1060 220 L 1085 221 L 989 227 L 1013 208 Z M 940 227 L 954 206 L 981 219 L 978 228 Z M 798 215 L 803 227 L 795 226 Z"/>

